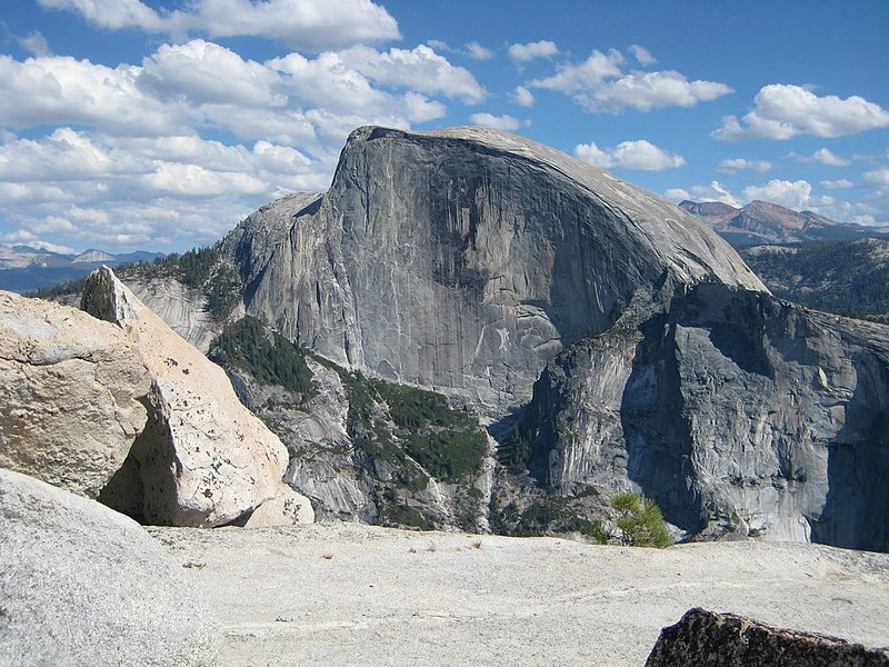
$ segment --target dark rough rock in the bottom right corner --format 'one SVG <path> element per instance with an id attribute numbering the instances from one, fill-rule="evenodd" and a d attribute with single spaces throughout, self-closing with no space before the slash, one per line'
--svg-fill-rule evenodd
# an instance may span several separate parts
<path id="1" fill-rule="evenodd" d="M 661 630 L 646 667 L 889 665 L 889 651 L 837 637 L 768 626 L 735 614 L 689 609 Z"/>

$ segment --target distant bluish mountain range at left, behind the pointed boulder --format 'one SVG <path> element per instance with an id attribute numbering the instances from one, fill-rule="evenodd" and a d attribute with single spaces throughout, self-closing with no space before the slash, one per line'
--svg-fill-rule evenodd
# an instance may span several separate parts
<path id="1" fill-rule="evenodd" d="M 163 257 L 163 253 L 140 250 L 112 255 L 90 249 L 76 255 L 63 255 L 30 246 L 0 246 L 0 289 L 13 292 L 31 291 L 82 278 L 101 265 L 113 267 L 153 261 L 156 257 Z"/>

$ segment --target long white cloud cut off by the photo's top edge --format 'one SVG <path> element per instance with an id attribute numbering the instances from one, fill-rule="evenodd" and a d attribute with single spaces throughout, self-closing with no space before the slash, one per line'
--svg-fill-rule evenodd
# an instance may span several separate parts
<path id="1" fill-rule="evenodd" d="M 139 0 L 39 0 L 100 28 L 138 28 L 174 37 L 266 37 L 310 51 L 399 39 L 397 21 L 370 0 L 193 0 L 157 12 Z"/>

